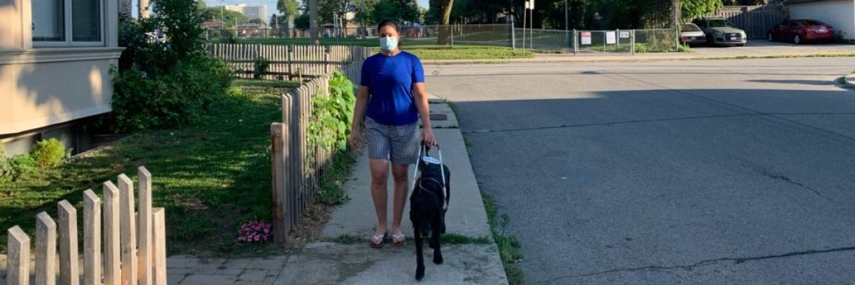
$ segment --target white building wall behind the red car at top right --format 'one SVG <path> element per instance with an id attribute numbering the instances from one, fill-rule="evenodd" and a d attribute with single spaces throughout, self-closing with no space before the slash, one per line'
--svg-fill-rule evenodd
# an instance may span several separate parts
<path id="1" fill-rule="evenodd" d="M 855 0 L 793 3 L 787 10 L 790 19 L 823 21 L 841 31 L 844 39 L 855 39 Z"/>

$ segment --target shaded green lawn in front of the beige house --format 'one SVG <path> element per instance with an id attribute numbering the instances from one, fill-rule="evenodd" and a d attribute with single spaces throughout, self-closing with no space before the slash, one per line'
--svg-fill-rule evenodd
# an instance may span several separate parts
<path id="1" fill-rule="evenodd" d="M 17 224 L 32 237 L 34 216 L 48 211 L 56 219 L 62 199 L 77 205 L 82 218 L 85 189 L 101 195 L 101 183 L 121 173 L 136 181 L 136 167 L 144 165 L 153 176 L 152 204 L 166 207 L 168 254 L 275 252 L 235 239 L 241 222 L 270 217 L 269 126 L 281 120 L 283 91 L 272 86 L 290 83 L 236 83 L 254 87 L 233 88 L 197 126 L 135 134 L 59 169 L 0 185 L 0 229 Z M 0 252 L 6 245 L 0 235 Z"/>

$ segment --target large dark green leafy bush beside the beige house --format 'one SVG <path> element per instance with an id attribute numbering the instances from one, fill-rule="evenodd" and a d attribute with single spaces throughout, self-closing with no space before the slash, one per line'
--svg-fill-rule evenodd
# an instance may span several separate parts
<path id="1" fill-rule="evenodd" d="M 226 62 L 203 49 L 203 16 L 192 0 L 158 1 L 152 17 L 122 24 L 125 46 L 113 75 L 114 132 L 174 128 L 197 122 L 231 83 Z M 148 34 L 162 31 L 163 37 Z"/>

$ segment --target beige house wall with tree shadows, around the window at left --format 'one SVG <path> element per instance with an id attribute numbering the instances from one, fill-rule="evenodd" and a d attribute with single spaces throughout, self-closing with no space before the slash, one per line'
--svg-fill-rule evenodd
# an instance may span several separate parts
<path id="1" fill-rule="evenodd" d="M 30 0 L 0 0 L 0 143 L 50 137 L 68 122 L 110 111 L 109 69 L 123 50 L 118 4 L 104 1 L 103 46 L 34 48 Z"/>

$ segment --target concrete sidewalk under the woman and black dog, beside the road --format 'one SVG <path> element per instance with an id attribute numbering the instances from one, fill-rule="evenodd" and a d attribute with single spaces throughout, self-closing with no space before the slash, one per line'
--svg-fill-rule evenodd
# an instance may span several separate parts
<path id="1" fill-rule="evenodd" d="M 457 118 L 445 102 L 432 99 L 434 134 L 451 169 L 451 203 L 446 216 L 448 234 L 490 238 L 486 211 L 475 181 Z M 435 152 L 433 152 L 435 154 Z M 271 258 L 168 258 L 170 285 L 271 284 L 507 284 L 498 247 L 489 243 L 445 244 L 445 263 L 433 264 L 425 246 L 425 277 L 416 282 L 416 248 L 412 240 L 409 204 L 404 210 L 406 246 L 370 248 L 376 215 L 369 192 L 368 156 L 354 165 L 345 191 L 351 200 L 333 208 L 320 240 L 288 256 Z M 410 168 L 412 169 L 412 168 Z M 412 170 L 410 170 L 412 171 Z M 410 172 L 412 174 L 412 172 Z M 392 181 L 389 181 L 392 208 Z M 389 226 L 392 223 L 389 211 Z M 483 239 L 482 239 L 483 240 Z M 339 242 L 333 242 L 339 241 Z"/>

